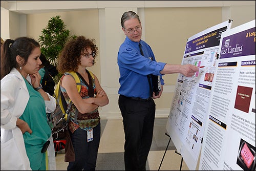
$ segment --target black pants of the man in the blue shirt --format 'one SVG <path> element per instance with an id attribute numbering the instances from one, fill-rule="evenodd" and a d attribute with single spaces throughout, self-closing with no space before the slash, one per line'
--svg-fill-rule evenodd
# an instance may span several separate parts
<path id="1" fill-rule="evenodd" d="M 155 101 L 152 98 L 140 101 L 120 95 L 118 104 L 125 134 L 125 170 L 145 170 L 153 138 Z"/>

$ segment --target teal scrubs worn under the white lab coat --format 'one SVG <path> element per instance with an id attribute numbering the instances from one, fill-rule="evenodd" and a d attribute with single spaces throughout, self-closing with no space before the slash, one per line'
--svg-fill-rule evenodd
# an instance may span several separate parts
<path id="1" fill-rule="evenodd" d="M 20 119 L 26 121 L 32 130 L 32 134 L 23 134 L 26 152 L 32 170 L 46 170 L 46 153 L 41 153 L 41 149 L 51 136 L 51 129 L 47 122 L 45 100 L 26 79 L 25 82 L 30 97 Z"/>

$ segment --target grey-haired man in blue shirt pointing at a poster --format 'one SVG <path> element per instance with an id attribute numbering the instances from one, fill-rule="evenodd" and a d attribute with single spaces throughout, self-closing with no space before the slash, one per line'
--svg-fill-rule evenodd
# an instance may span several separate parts
<path id="1" fill-rule="evenodd" d="M 153 99 L 160 98 L 162 94 L 162 75 L 181 73 L 192 77 L 199 69 L 189 64 L 170 65 L 157 62 L 151 47 L 141 40 L 141 22 L 135 12 L 124 12 L 121 26 L 126 35 L 117 56 L 120 72 L 118 104 L 125 134 L 124 164 L 125 170 L 145 170 L 156 112 Z M 150 74 L 160 75 L 161 91 L 158 95 L 152 92 L 151 81 L 147 78 Z"/>

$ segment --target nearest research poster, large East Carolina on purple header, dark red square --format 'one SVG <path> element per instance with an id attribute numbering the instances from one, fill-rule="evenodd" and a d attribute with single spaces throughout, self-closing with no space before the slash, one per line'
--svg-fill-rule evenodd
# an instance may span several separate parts
<path id="1" fill-rule="evenodd" d="M 223 32 L 199 170 L 255 170 L 255 20 Z"/>

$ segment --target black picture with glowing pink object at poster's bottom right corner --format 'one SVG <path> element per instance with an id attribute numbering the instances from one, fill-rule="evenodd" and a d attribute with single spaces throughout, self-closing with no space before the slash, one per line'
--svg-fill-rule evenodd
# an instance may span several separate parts
<path id="1" fill-rule="evenodd" d="M 255 147 L 241 139 L 237 164 L 244 170 L 255 170 Z"/>

